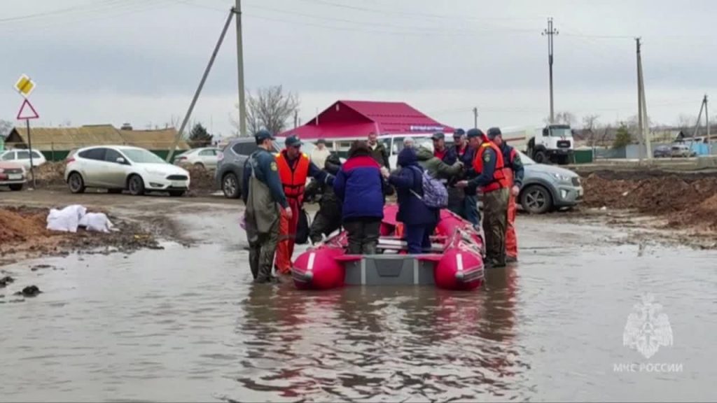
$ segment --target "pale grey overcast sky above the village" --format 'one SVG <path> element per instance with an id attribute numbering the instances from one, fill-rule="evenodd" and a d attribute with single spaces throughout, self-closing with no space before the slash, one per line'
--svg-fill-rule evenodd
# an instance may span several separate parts
<path id="1" fill-rule="evenodd" d="M 37 125 L 179 120 L 232 0 L 1 0 L 0 118 L 27 73 Z M 243 0 L 248 89 L 283 85 L 300 120 L 338 99 L 405 101 L 442 123 L 541 124 L 549 115 L 546 19 L 554 17 L 556 111 L 604 123 L 637 114 L 640 36 L 647 113 L 657 123 L 717 103 L 717 1 Z M 194 111 L 232 131 L 232 26 Z M 711 107 L 711 115 L 716 108 Z"/>

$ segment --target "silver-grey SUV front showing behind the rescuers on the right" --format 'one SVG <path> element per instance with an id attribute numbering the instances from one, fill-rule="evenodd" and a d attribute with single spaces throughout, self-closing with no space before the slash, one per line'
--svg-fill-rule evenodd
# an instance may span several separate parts
<path id="1" fill-rule="evenodd" d="M 525 167 L 518 202 L 528 213 L 543 214 L 553 209 L 574 207 L 582 201 L 580 176 L 559 166 L 536 163 L 518 151 Z"/>

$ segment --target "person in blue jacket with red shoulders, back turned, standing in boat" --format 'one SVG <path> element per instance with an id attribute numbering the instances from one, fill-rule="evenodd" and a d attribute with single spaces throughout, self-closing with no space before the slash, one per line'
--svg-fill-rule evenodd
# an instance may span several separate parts
<path id="1" fill-rule="evenodd" d="M 381 166 L 371 156 L 368 143 L 353 142 L 348 159 L 333 181 L 351 255 L 376 254 L 384 218 L 384 185 Z"/>

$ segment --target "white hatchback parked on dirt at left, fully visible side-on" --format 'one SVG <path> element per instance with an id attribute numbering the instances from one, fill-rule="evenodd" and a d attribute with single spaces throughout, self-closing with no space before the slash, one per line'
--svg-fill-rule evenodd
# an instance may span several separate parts
<path id="1" fill-rule="evenodd" d="M 80 148 L 67 158 L 65 181 L 72 193 L 92 187 L 110 193 L 166 191 L 182 196 L 189 189 L 189 172 L 144 148 L 95 146 Z"/>

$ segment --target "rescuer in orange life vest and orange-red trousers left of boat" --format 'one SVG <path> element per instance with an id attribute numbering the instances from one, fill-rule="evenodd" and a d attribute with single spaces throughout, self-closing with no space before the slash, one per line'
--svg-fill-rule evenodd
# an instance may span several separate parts
<path id="1" fill-rule="evenodd" d="M 318 166 L 315 166 L 310 158 L 301 152 L 301 141 L 297 136 L 288 136 L 284 145 L 285 148 L 276 155 L 276 165 L 284 194 L 293 214 L 289 217 L 282 211 L 275 267 L 277 272 L 289 274 L 299 214 L 303 214 L 301 207 L 304 201 L 306 179 L 311 176 L 319 182 L 333 185 L 333 176 L 318 169 Z"/>

